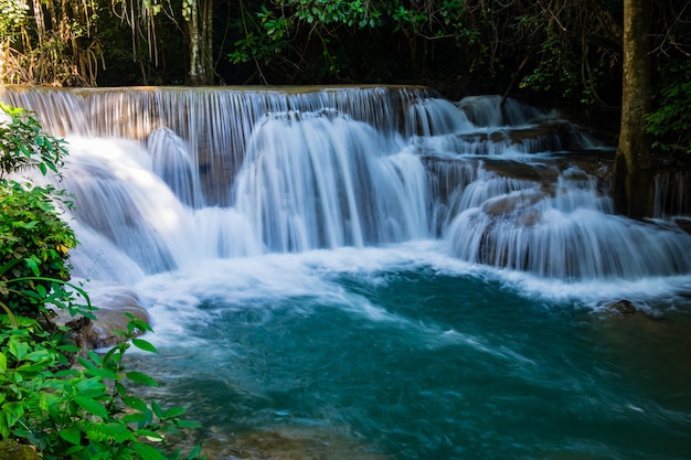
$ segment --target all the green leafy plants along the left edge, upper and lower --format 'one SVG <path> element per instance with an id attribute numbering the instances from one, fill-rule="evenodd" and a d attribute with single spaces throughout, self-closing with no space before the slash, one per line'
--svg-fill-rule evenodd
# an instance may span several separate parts
<path id="1" fill-rule="evenodd" d="M 62 143 L 41 131 L 31 114 L 3 107 L 12 115 L 2 125 L 2 173 L 34 167 L 59 173 L 66 153 Z M 166 436 L 198 425 L 181 418 L 184 409 L 163 409 L 130 389 L 135 384 L 157 385 L 148 375 L 129 371 L 125 352 L 136 346 L 156 347 L 140 333 L 150 327 L 128 314 L 123 342 L 104 355 L 68 340 L 67 328 L 42 325 L 35 318 L 47 306 L 72 314 L 92 317 L 88 295 L 70 285 L 65 265 L 67 248 L 76 244 L 70 227 L 53 207 L 59 192 L 51 186 L 0 180 L 0 439 L 34 446 L 43 459 L 179 459 L 179 450 L 166 454 Z M 85 301 L 85 306 L 77 302 Z M 192 449 L 188 460 L 200 458 Z"/>

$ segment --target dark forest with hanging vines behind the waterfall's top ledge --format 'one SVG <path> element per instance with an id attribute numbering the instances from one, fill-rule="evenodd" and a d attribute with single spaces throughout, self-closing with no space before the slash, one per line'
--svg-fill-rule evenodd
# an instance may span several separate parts
<path id="1" fill-rule="evenodd" d="M 689 152 L 691 1 L 646 1 L 648 129 L 660 150 Z M 616 120 L 624 3 L 0 0 L 0 75 L 61 86 L 427 84 L 453 98 L 510 93 Z"/>

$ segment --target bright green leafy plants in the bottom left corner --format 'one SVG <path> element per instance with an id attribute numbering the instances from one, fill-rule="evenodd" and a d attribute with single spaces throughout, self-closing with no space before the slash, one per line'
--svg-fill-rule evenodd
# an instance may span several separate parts
<path id="1" fill-rule="evenodd" d="M 152 442 L 198 425 L 181 418 L 184 409 L 163 409 L 132 395 L 131 384 L 156 385 L 146 374 L 129 371 L 124 354 L 130 344 L 156 352 L 137 339 L 148 324 L 129 317 L 121 342 L 105 355 L 79 356 L 82 368 L 68 366 L 66 331 L 46 332 L 33 320 L 0 331 L 0 437 L 36 447 L 44 459 L 179 459 Z M 199 447 L 187 459 L 200 457 Z"/>

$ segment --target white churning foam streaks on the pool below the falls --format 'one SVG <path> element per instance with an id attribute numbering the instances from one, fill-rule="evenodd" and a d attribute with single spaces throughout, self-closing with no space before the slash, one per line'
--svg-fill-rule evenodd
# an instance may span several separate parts
<path id="1" fill-rule="evenodd" d="M 386 324 L 423 340 L 425 346 L 465 344 L 513 362 L 530 360 L 511 350 L 501 350 L 483 339 L 460 334 L 442 324 L 412 321 L 365 296 L 342 286 L 342 276 L 380 288 L 392 274 L 432 270 L 438 275 L 472 277 L 497 282 L 500 289 L 536 299 L 546 308 L 598 311 L 608 302 L 627 299 L 655 311 L 656 302 L 688 292 L 691 276 L 642 278 L 639 280 L 566 282 L 525 272 L 472 265 L 446 256 L 439 242 L 418 240 L 379 248 L 340 248 L 301 254 L 267 254 L 236 259 L 208 260 L 194 268 L 149 276 L 136 286 L 149 309 L 161 341 L 179 340 L 189 324 L 214 321 L 228 311 L 259 309 L 269 318 L 273 309 L 290 308 L 291 313 L 310 315 L 319 306 L 338 308 L 368 323 Z M 305 299 L 305 301 L 288 301 Z M 221 308 L 204 308 L 213 302 Z M 167 339 L 166 339 L 167 338 Z"/>

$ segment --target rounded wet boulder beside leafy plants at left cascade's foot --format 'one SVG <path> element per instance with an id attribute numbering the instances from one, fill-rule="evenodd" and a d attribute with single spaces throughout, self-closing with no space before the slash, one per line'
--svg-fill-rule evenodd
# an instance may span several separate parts
<path id="1" fill-rule="evenodd" d="M 70 317 L 66 311 L 56 312 L 53 322 L 57 325 L 67 325 L 73 331 L 72 336 L 77 346 L 83 350 L 113 346 L 125 340 L 116 331 L 127 331 L 130 313 L 136 319 L 149 322 L 147 310 L 139 303 L 139 297 L 130 289 L 121 286 L 109 286 L 91 292 L 92 302 L 98 310 L 95 311 L 96 321 L 82 315 Z M 143 332 L 143 331 L 141 331 Z"/>

